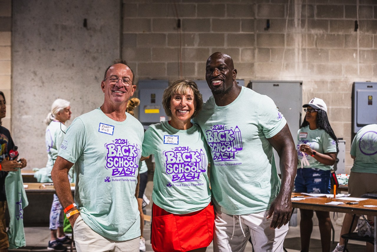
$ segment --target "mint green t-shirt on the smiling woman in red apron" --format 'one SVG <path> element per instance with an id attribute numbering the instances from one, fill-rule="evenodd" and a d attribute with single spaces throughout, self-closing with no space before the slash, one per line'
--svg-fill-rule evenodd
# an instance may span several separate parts
<path id="1" fill-rule="evenodd" d="M 145 132 L 143 155 L 155 155 L 153 203 L 170 213 L 204 209 L 211 201 L 207 175 L 208 146 L 198 125 L 177 130 L 167 121 Z"/>

